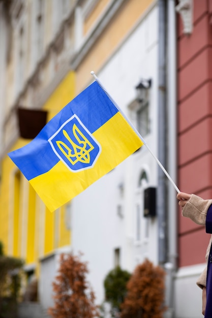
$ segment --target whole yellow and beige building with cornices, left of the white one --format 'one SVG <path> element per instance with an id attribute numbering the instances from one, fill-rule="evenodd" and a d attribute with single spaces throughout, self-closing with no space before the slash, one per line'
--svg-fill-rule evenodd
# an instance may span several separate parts
<path id="1" fill-rule="evenodd" d="M 0 71 L 0 241 L 6 255 L 22 258 L 39 277 L 40 261 L 72 246 L 71 209 L 51 213 L 7 153 L 30 142 L 20 138 L 17 108 L 42 109 L 50 120 L 93 81 L 130 36 L 154 0 L 12 1 L 0 19 L 9 34 Z M 7 19 L 5 18 L 7 16 Z M 0 65 L 0 66 L 1 66 Z M 112 75 L 111 75 L 112 76 Z M 86 238 L 85 238 L 86 239 Z"/>

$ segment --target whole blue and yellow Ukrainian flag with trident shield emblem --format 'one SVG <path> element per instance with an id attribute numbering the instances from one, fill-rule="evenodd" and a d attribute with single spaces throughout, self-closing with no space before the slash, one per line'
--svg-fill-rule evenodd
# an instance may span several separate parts
<path id="1" fill-rule="evenodd" d="M 50 211 L 67 203 L 142 146 L 94 82 L 26 146 L 9 153 Z"/>

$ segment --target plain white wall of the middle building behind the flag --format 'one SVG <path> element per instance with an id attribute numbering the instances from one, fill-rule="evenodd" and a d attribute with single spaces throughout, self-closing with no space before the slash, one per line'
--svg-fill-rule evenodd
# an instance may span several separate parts
<path id="1" fill-rule="evenodd" d="M 157 151 L 157 7 L 137 26 L 126 41 L 97 74 L 112 98 L 128 115 L 128 105 L 135 100 L 135 86 L 141 78 L 152 79 L 150 90 L 150 129 L 146 138 Z M 95 68 L 91 66 L 91 70 Z M 115 155 L 115 153 L 114 153 Z M 113 171 L 87 188 L 73 200 L 73 250 L 84 253 L 88 262 L 88 279 L 97 303 L 104 299 L 103 280 L 114 268 L 114 249 L 121 249 L 120 266 L 132 272 L 145 257 L 157 263 L 157 219 L 150 220 L 149 239 L 135 245 L 135 202 L 140 172 L 145 167 L 149 185 L 157 185 L 157 164 L 145 146 L 131 155 Z M 124 184 L 120 198 L 119 185 Z M 122 202 L 124 217 L 117 215 Z M 143 218 L 141 219 L 144 221 Z M 138 255 L 140 258 L 138 259 Z"/>

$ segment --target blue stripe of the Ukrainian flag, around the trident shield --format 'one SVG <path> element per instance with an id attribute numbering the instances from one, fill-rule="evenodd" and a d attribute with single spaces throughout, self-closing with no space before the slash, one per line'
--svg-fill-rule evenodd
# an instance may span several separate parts
<path id="1" fill-rule="evenodd" d="M 9 156 L 26 179 L 31 180 L 58 163 L 59 158 L 53 152 L 48 139 L 67 119 L 76 114 L 89 132 L 94 133 L 117 112 L 118 109 L 95 81 L 54 116 L 34 140 L 10 152 Z"/>

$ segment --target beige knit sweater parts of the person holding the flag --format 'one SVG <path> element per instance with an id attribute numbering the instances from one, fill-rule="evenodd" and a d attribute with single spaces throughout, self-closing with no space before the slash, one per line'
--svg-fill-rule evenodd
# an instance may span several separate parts
<path id="1" fill-rule="evenodd" d="M 192 195 L 190 200 L 186 203 L 185 207 L 183 208 L 183 216 L 189 217 L 198 225 L 205 226 L 207 210 L 209 206 L 212 204 L 212 200 L 203 200 L 202 198 Z M 208 244 L 206 250 L 205 260 L 207 263 L 208 255 L 210 251 L 210 245 L 212 242 L 212 236 L 210 238 L 210 242 Z M 206 275 L 207 275 L 207 267 L 205 267 L 204 271 L 200 275 L 197 280 L 197 285 L 202 289 L 206 287 Z"/>

